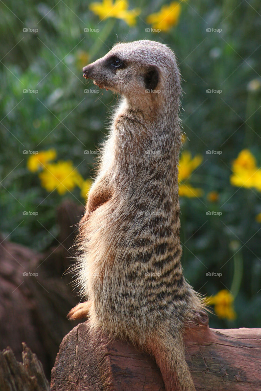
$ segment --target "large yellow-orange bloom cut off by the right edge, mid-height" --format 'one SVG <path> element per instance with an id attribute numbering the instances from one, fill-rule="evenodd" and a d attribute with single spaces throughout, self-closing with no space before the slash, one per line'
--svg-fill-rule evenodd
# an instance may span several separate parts
<path id="1" fill-rule="evenodd" d="M 232 163 L 234 174 L 230 183 L 237 187 L 255 187 L 261 191 L 261 169 L 256 166 L 256 159 L 248 149 L 243 149 Z"/>

